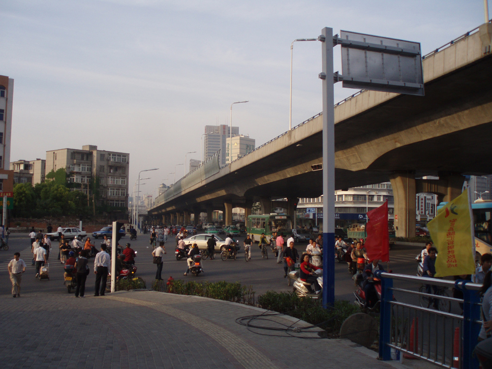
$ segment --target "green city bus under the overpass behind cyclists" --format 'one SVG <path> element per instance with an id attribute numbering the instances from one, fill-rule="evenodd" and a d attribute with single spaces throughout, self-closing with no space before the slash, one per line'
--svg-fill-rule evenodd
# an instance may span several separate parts
<path id="1" fill-rule="evenodd" d="M 290 215 L 248 215 L 246 222 L 246 233 L 251 237 L 253 242 L 260 242 L 260 236 L 262 233 L 265 233 L 268 242 L 270 242 L 273 232 L 277 232 L 277 235 L 283 233 L 284 237 L 291 234 L 292 220 Z"/>

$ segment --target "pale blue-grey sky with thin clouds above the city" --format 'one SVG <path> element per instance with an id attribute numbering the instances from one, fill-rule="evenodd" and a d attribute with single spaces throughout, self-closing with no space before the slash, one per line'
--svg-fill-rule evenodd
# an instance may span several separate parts
<path id="1" fill-rule="evenodd" d="M 183 177 L 205 125 L 256 146 L 289 128 L 290 44 L 324 27 L 421 43 L 484 23 L 483 0 L 16 0 L 0 5 L 0 74 L 14 79 L 12 161 L 97 145 L 130 154 L 129 190 Z M 340 49 L 334 68 L 341 73 Z M 322 111 L 321 43 L 293 50 L 292 125 Z M 357 92 L 335 85 L 335 102 Z M 188 163 L 186 164 L 188 167 Z M 175 171 L 176 168 L 176 171 Z"/>

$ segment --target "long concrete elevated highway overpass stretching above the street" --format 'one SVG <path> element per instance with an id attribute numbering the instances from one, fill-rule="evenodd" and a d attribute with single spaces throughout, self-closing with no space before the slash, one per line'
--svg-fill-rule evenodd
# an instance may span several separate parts
<path id="1" fill-rule="evenodd" d="M 335 183 L 343 189 L 391 181 L 397 235 L 415 231 L 415 194 L 449 200 L 461 193 L 463 174 L 492 173 L 492 55 L 474 30 L 424 57 L 425 97 L 362 91 L 335 106 Z M 232 208 L 250 214 L 254 201 L 322 193 L 321 115 L 219 168 L 216 157 L 156 199 L 151 215 L 189 222 L 201 212 Z M 439 176 L 436 181 L 418 178 Z M 293 203 L 289 201 L 289 212 Z"/>

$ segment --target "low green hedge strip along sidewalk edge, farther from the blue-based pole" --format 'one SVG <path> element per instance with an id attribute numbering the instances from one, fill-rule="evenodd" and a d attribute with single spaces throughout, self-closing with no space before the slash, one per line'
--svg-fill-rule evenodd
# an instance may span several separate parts
<path id="1" fill-rule="evenodd" d="M 152 288 L 155 291 L 162 291 L 163 283 L 154 282 Z M 216 300 L 230 301 L 245 305 L 254 305 L 254 291 L 251 286 L 243 286 L 239 282 L 229 283 L 221 282 L 194 282 L 176 279 L 173 284 L 167 288 L 167 292 L 177 295 L 194 295 L 209 297 Z"/>

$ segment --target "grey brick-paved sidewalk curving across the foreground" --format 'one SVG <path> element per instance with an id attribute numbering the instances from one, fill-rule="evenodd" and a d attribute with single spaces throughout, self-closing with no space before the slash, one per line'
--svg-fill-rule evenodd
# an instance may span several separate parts
<path id="1" fill-rule="evenodd" d="M 194 296 L 130 291 L 74 298 L 0 297 L 1 368 L 406 368 L 313 330 L 248 329 L 236 319 L 265 310 Z M 291 317 L 252 323 L 306 327 Z M 261 333 L 261 334 L 258 334 Z M 275 335 L 283 337 L 275 337 Z"/>

